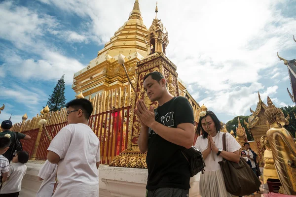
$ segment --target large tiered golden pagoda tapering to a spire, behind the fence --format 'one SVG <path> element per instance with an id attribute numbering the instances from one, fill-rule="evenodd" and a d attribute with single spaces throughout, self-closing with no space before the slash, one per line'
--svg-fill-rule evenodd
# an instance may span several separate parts
<path id="1" fill-rule="evenodd" d="M 91 60 L 82 70 L 74 73 L 72 88 L 84 97 L 92 98 L 97 93 L 128 86 L 128 80 L 122 66 L 117 63 L 118 56 L 125 59 L 125 66 L 132 78 L 136 72 L 137 62 L 147 57 L 147 28 L 143 23 L 139 1 L 134 3 L 128 21 L 98 52 L 98 56 Z"/>

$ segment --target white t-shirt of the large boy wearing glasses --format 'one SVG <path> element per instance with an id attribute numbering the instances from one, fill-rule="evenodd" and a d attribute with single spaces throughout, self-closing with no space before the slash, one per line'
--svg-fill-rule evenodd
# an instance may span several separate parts
<path id="1" fill-rule="evenodd" d="M 60 158 L 58 186 L 53 197 L 97 197 L 100 142 L 85 124 L 70 124 L 61 129 L 48 149 Z"/>

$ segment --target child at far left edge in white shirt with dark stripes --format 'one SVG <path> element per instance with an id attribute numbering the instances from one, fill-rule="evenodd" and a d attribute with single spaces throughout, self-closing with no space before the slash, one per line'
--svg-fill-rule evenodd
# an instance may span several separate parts
<path id="1" fill-rule="evenodd" d="M 9 162 L 8 160 L 2 155 L 8 149 L 11 141 L 8 137 L 0 137 L 0 176 L 1 176 L 1 183 L 2 181 L 5 182 L 9 175 Z"/>

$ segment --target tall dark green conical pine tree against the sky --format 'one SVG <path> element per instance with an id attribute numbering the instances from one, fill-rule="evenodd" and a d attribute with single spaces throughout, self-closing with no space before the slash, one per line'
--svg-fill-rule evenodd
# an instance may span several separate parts
<path id="1" fill-rule="evenodd" d="M 60 110 L 61 107 L 65 107 L 65 74 L 59 79 L 57 85 L 47 101 L 47 105 L 50 111 Z"/>

